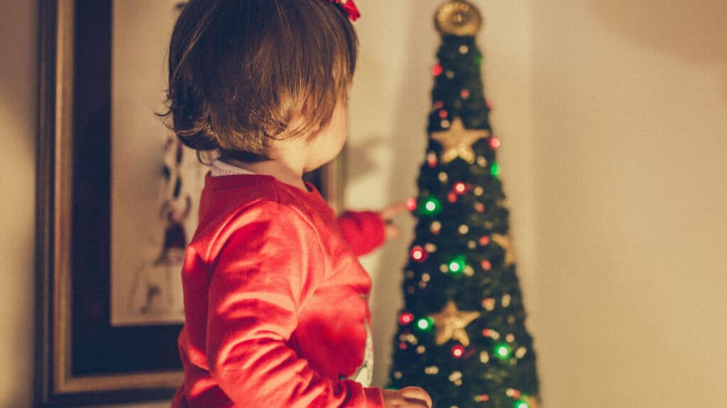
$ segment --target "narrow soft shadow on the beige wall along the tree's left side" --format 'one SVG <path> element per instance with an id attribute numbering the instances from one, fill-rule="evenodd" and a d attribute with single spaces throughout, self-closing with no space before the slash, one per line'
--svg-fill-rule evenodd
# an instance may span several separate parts
<path id="1" fill-rule="evenodd" d="M 417 0 L 419 1 L 419 0 Z M 397 103 L 392 106 L 395 121 L 388 146 L 393 160 L 387 186 L 387 200 L 394 202 L 406 199 L 417 192 L 419 166 L 424 161 L 427 146 L 427 113 L 433 81 L 430 66 L 435 61 L 435 52 L 440 38 L 434 32 L 430 16 L 440 1 L 417 3 L 409 14 L 409 33 L 403 42 L 406 48 L 406 62 L 403 70 L 406 76 L 399 83 Z M 382 61 L 382 66 L 386 62 Z M 377 301 L 371 305 L 374 315 L 374 361 L 377 362 L 374 383 L 387 385 L 391 362 L 391 345 L 398 322 L 398 307 L 403 305 L 403 268 L 409 258 L 411 232 L 416 220 L 409 214 L 397 218 L 403 237 L 387 242 L 379 258 L 377 282 L 372 297 Z M 395 309 L 396 308 L 396 309 Z"/>

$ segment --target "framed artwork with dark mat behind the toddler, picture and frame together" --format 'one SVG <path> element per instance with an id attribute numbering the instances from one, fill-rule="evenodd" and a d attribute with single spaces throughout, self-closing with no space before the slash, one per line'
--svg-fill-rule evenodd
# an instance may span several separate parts
<path id="1" fill-rule="evenodd" d="M 170 399 L 207 168 L 164 113 L 179 0 L 41 0 L 36 406 Z M 340 208 L 340 160 L 308 178 Z"/>

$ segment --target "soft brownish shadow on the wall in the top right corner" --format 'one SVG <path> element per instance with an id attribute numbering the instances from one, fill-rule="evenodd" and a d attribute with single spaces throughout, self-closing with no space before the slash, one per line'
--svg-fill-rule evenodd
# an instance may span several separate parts
<path id="1" fill-rule="evenodd" d="M 723 70 L 727 91 L 727 1 L 591 0 L 598 21 L 686 62 Z"/>

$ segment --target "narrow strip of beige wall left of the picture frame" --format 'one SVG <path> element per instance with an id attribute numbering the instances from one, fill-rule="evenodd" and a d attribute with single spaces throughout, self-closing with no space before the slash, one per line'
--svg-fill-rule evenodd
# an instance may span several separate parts
<path id="1" fill-rule="evenodd" d="M 26 406 L 33 393 L 35 3 L 0 2 L 0 407 Z"/>

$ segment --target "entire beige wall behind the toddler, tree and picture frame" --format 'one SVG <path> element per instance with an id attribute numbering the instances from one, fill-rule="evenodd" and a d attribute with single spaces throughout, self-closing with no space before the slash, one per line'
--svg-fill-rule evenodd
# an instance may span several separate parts
<path id="1" fill-rule="evenodd" d="M 476 0 L 547 407 L 719 407 L 727 378 L 722 0 Z M 33 383 L 36 5 L 0 5 L 0 406 Z M 438 0 L 362 0 L 347 203 L 415 192 Z M 407 236 L 364 259 L 385 379 Z M 163 406 L 160 404 L 158 406 Z"/>

